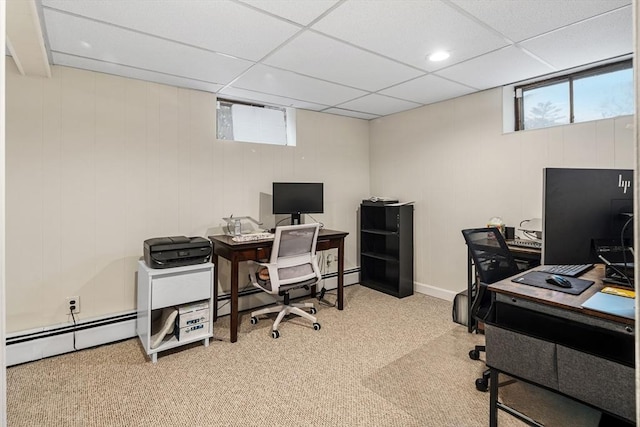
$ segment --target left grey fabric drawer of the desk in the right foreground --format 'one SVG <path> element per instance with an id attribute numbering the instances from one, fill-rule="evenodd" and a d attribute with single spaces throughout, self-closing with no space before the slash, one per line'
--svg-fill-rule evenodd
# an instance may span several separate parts
<path id="1" fill-rule="evenodd" d="M 558 389 L 554 343 L 489 324 L 484 333 L 488 366 Z"/>

